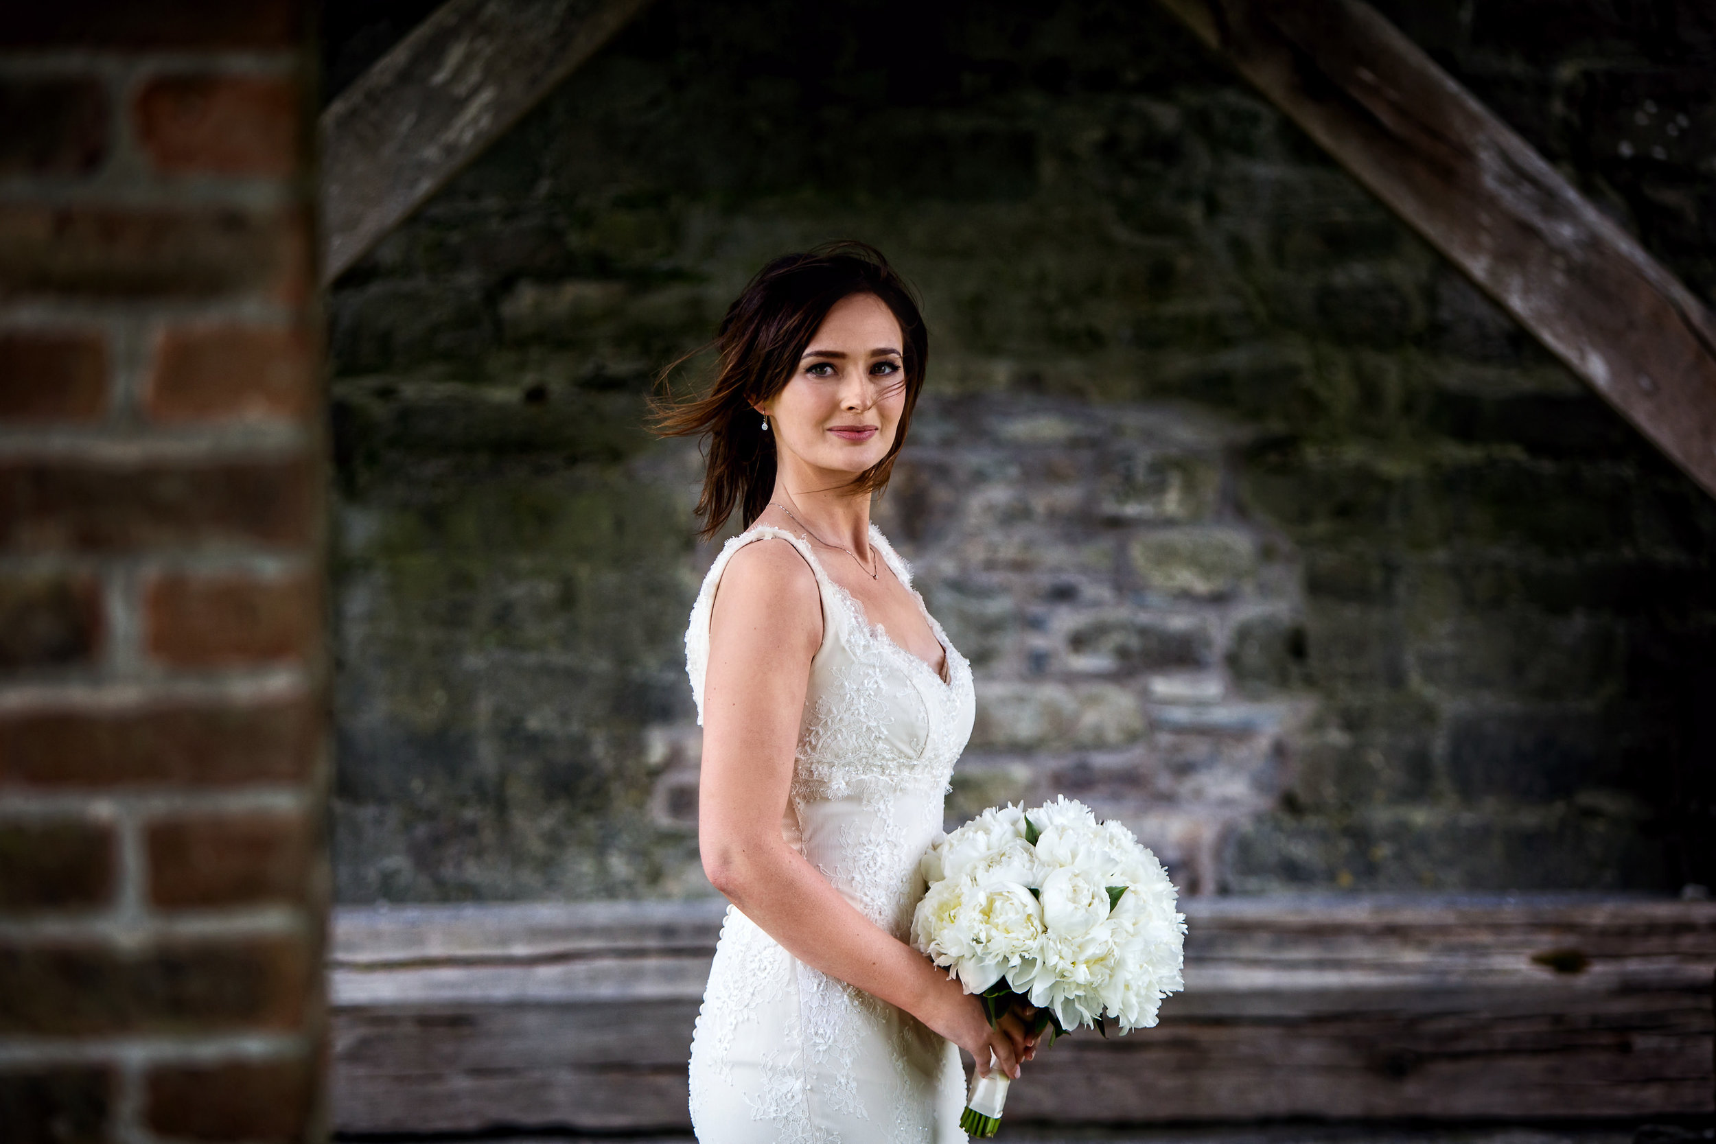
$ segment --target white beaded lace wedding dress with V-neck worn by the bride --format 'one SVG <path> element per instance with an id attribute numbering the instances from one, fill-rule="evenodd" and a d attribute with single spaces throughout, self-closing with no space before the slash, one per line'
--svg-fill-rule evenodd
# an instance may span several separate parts
<path id="1" fill-rule="evenodd" d="M 698 722 L 716 585 L 733 552 L 764 537 L 798 549 L 822 595 L 822 647 L 810 660 L 781 834 L 870 921 L 908 940 L 923 895 L 918 859 L 942 827 L 947 779 L 971 734 L 971 667 L 925 611 L 947 652 L 944 681 L 867 623 L 807 542 L 755 527 L 728 540 L 692 607 L 685 660 Z M 870 542 L 909 588 L 911 569 L 875 527 Z M 805 966 L 731 906 L 692 1038 L 690 1086 L 702 1144 L 966 1139 L 952 1043 Z"/>

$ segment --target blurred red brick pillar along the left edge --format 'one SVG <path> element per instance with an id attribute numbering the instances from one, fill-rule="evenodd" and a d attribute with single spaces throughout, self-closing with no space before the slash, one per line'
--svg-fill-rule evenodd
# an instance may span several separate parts
<path id="1" fill-rule="evenodd" d="M 309 0 L 0 5 L 0 1141 L 319 1132 Z"/>

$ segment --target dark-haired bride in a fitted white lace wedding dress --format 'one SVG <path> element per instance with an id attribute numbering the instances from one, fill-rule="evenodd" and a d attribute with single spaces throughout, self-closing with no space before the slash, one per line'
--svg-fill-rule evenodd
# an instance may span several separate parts
<path id="1" fill-rule="evenodd" d="M 870 523 L 928 334 L 873 249 L 765 266 L 719 374 L 659 429 L 707 441 L 716 557 L 685 633 L 704 726 L 698 847 L 731 906 L 692 1039 L 702 1144 L 963 1141 L 964 1074 L 1035 1039 L 906 943 L 918 858 L 971 732 L 971 669 Z"/>

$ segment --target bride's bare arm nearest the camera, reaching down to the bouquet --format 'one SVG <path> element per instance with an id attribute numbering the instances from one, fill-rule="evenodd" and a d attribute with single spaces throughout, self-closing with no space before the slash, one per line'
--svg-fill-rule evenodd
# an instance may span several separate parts
<path id="1" fill-rule="evenodd" d="M 999 1033 L 923 954 L 858 912 L 781 835 L 810 660 L 822 643 L 815 575 L 786 542 L 755 540 L 728 561 L 709 623 L 697 842 L 721 894 L 793 957 L 913 1014 L 1006 1075 L 1030 1051 Z"/>

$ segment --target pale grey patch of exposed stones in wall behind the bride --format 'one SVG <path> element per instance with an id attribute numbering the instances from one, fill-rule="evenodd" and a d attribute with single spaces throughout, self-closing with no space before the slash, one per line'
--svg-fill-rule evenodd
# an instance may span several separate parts
<path id="1" fill-rule="evenodd" d="M 1131 822 L 1182 890 L 1224 887 L 1313 707 L 1244 686 L 1304 633 L 1289 547 L 1234 497 L 1242 441 L 1160 403 L 927 403 L 879 520 L 975 667 L 952 820 L 1067 794 Z"/>

